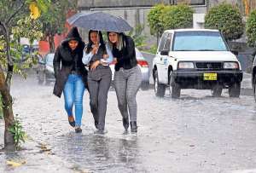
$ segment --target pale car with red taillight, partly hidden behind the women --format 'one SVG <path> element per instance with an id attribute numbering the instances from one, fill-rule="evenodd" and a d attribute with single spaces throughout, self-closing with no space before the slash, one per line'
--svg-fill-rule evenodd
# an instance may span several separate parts
<path id="1" fill-rule="evenodd" d="M 136 52 L 138 66 L 140 67 L 142 74 L 143 74 L 143 82 L 141 85 L 141 89 L 146 90 L 149 88 L 149 77 L 150 77 L 148 61 L 146 61 L 144 59 L 142 53 L 137 48 L 135 49 L 135 52 Z M 114 64 L 113 63 L 110 64 L 110 68 L 112 71 L 112 81 L 113 81 L 113 75 L 114 75 Z"/>

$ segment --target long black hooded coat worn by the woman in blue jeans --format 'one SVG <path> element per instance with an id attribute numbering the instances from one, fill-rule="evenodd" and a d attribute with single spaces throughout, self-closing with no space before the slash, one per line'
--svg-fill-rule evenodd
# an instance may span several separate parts
<path id="1" fill-rule="evenodd" d="M 70 40 L 77 40 L 79 45 L 76 49 L 72 50 L 68 46 Z M 84 84 L 87 84 L 87 71 L 82 62 L 84 52 L 84 42 L 79 36 L 78 29 L 73 27 L 67 34 L 66 39 L 55 50 L 55 57 L 53 61 L 55 70 L 55 87 L 53 94 L 61 97 L 61 93 L 67 82 L 68 75 L 75 69 L 83 78 Z"/>

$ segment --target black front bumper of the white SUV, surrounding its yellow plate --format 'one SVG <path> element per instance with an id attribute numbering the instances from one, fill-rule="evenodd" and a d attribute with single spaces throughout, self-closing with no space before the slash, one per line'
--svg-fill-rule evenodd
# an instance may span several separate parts
<path id="1" fill-rule="evenodd" d="M 205 73 L 216 73 L 217 80 L 204 80 Z M 241 83 L 241 71 L 175 71 L 172 73 L 173 82 L 181 89 L 212 89 L 215 85 L 228 88 L 235 83 Z"/>

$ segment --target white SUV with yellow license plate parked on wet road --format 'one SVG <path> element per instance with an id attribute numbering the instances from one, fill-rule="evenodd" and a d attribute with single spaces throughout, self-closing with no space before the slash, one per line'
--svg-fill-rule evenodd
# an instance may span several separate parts
<path id="1" fill-rule="evenodd" d="M 178 29 L 163 33 L 153 78 L 157 96 L 164 96 L 169 86 L 172 98 L 178 98 L 181 89 L 212 89 L 213 96 L 220 96 L 224 88 L 230 97 L 239 97 L 242 72 L 218 30 Z"/>

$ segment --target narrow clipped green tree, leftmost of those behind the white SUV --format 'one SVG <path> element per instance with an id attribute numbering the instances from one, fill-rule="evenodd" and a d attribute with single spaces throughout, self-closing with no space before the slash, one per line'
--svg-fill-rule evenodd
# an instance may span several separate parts
<path id="1" fill-rule="evenodd" d="M 148 13 L 148 24 L 150 27 L 150 33 L 151 35 L 157 37 L 157 43 L 159 41 L 159 37 L 164 32 L 164 26 L 163 23 L 161 22 L 161 16 L 163 14 L 164 9 L 164 4 L 158 4 L 154 6 L 154 8 L 151 9 Z"/>

